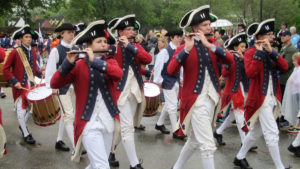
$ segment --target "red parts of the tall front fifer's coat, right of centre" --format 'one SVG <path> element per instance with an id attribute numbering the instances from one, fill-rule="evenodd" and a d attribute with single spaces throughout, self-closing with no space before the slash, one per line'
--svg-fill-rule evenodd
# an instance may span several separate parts
<path id="1" fill-rule="evenodd" d="M 215 44 L 216 45 L 216 44 Z M 217 45 L 216 45 L 217 46 Z M 198 72 L 199 72 L 199 61 L 196 47 L 194 46 L 190 53 L 188 54 L 185 62 L 180 64 L 176 56 L 184 50 L 185 44 L 179 46 L 168 65 L 168 73 L 171 75 L 176 75 L 180 71 L 181 66 L 183 66 L 183 87 L 181 92 L 181 104 L 180 104 L 180 123 L 182 124 L 186 115 L 188 114 L 190 108 L 194 105 L 199 94 L 194 93 L 194 87 L 196 84 Z M 219 47 L 218 47 L 219 48 Z M 231 53 L 226 51 L 226 55 L 224 58 L 218 57 L 215 53 L 209 50 L 209 55 L 212 60 L 212 66 L 214 71 L 216 72 L 216 76 L 219 82 L 219 68 L 218 63 L 223 64 L 231 64 L 233 62 L 233 58 Z M 220 90 L 218 91 L 220 94 Z M 182 125 L 181 125 L 182 126 Z"/>

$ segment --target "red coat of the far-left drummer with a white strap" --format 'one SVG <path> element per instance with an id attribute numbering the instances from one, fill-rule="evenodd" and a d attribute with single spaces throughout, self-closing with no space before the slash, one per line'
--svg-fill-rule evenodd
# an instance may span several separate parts
<path id="1" fill-rule="evenodd" d="M 36 65 L 36 52 L 33 48 L 31 48 L 31 50 L 32 50 L 32 57 L 33 57 L 32 73 L 34 76 L 38 76 L 39 69 Z M 12 72 L 10 71 L 11 68 L 12 68 Z M 4 64 L 3 75 L 8 81 L 11 81 L 12 78 L 16 78 L 21 83 L 23 80 L 24 72 L 25 72 L 25 68 L 22 63 L 21 57 L 17 49 L 13 49 L 8 55 L 6 62 Z M 19 90 L 16 89 L 15 87 L 12 87 L 12 91 L 13 91 L 14 101 L 16 101 L 16 99 L 21 95 L 23 90 Z"/>

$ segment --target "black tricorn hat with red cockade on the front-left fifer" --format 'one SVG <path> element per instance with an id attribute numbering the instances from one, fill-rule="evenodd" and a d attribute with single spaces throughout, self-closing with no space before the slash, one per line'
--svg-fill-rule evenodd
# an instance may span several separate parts
<path id="1" fill-rule="evenodd" d="M 105 37 L 109 44 L 114 44 L 115 39 L 107 30 L 107 25 L 104 20 L 98 20 L 90 23 L 87 28 L 80 32 L 72 41 L 73 45 L 83 44 L 92 41 L 98 37 Z"/>

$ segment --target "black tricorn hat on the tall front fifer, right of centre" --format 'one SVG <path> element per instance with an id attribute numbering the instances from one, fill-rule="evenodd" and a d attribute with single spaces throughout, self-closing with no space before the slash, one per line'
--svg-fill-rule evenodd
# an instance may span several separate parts
<path id="1" fill-rule="evenodd" d="M 204 5 L 187 12 L 181 19 L 179 27 L 186 28 L 188 26 L 193 26 L 206 20 L 214 22 L 216 21 L 216 19 L 217 18 L 215 15 L 211 15 L 209 13 L 209 5 Z"/>

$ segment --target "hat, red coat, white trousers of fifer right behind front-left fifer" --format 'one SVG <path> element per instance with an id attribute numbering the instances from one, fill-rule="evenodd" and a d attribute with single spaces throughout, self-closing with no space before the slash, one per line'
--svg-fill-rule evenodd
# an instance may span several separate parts
<path id="1" fill-rule="evenodd" d="M 109 23 L 112 30 L 123 30 L 126 27 L 138 27 L 134 14 L 113 19 Z M 131 168 L 140 169 L 142 166 L 136 155 L 133 123 L 138 107 L 145 101 L 141 65 L 150 63 L 152 57 L 138 43 L 129 43 L 126 48 L 118 43 L 115 58 L 124 72 L 121 80 L 116 83 L 116 93 L 120 96 L 118 107 L 121 111 L 121 138 Z"/>

